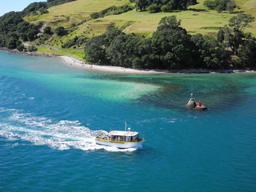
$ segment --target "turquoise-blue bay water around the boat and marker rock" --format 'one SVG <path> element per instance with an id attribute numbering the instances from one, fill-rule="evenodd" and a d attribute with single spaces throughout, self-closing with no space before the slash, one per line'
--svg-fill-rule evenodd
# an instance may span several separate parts
<path id="1" fill-rule="evenodd" d="M 210 110 L 186 109 L 194 93 Z M 0 191 L 255 191 L 256 74 L 122 75 L 0 52 Z M 142 149 L 97 146 L 127 122 Z"/>

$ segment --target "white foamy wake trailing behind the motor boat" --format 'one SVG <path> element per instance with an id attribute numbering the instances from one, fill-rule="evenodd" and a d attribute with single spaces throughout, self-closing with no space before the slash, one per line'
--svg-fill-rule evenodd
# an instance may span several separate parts
<path id="1" fill-rule="evenodd" d="M 21 110 L 0 108 L 0 114 L 8 112 L 9 117 L 0 122 L 0 136 L 10 141 L 26 141 L 36 146 L 50 146 L 55 150 L 121 150 L 111 146 L 99 146 L 94 138 L 104 130 L 90 130 L 78 121 L 55 121 L 22 113 Z"/>

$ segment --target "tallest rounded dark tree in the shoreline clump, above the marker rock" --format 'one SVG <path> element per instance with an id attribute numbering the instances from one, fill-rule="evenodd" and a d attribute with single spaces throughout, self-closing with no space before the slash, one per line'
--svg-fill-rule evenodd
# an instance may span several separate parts
<path id="1" fill-rule="evenodd" d="M 162 18 L 152 36 L 154 55 L 161 69 L 183 69 L 194 66 L 193 43 L 175 16 Z M 154 58 L 156 58 L 154 56 Z"/>

